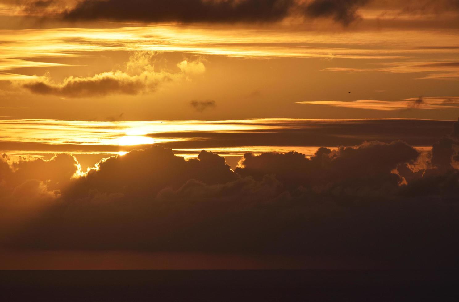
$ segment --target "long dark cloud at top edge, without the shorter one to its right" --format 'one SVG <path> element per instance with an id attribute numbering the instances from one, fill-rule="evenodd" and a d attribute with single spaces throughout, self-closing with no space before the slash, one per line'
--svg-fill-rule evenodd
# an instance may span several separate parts
<path id="1" fill-rule="evenodd" d="M 66 19 L 148 22 L 273 22 L 288 16 L 295 0 L 84 0 Z"/>

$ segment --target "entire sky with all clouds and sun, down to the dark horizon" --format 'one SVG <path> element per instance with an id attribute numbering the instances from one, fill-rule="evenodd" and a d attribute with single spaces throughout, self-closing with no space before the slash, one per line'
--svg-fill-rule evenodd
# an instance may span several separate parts
<path id="1" fill-rule="evenodd" d="M 0 0 L 0 269 L 457 265 L 458 117 L 458 0 Z"/>

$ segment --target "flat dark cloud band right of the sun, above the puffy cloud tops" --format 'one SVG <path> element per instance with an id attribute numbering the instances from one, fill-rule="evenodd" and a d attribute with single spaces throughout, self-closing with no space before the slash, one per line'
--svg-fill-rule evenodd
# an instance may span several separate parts
<path id="1" fill-rule="evenodd" d="M 300 120 L 263 121 L 260 126 L 266 126 L 267 129 L 246 132 L 162 132 L 151 134 L 151 137 L 184 138 L 163 144 L 173 149 L 272 146 L 275 150 L 276 146 L 353 146 L 373 140 L 384 143 L 403 140 L 413 146 L 431 146 L 438 141 L 438 137 L 450 134 L 453 122 L 399 119 L 333 122 Z"/>

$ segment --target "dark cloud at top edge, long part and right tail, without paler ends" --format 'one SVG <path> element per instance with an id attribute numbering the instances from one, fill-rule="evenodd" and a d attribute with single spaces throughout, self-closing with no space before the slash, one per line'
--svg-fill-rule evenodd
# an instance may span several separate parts
<path id="1" fill-rule="evenodd" d="M 147 22 L 278 22 L 289 16 L 332 17 L 343 25 L 358 19 L 368 0 L 84 0 L 63 13 L 69 20 L 139 20 Z"/>

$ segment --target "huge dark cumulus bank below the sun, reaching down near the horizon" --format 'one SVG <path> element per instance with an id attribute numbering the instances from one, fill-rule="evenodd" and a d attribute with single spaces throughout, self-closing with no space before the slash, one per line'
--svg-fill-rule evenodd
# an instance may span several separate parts
<path id="1" fill-rule="evenodd" d="M 451 165 L 439 169 L 453 155 L 445 157 L 435 148 L 431 157 L 401 141 L 319 148 L 310 158 L 295 152 L 249 153 L 233 172 L 212 152 L 185 160 L 153 146 L 104 159 L 86 174 L 70 177 L 63 188 L 56 176 L 36 172 L 31 178 L 37 181 L 54 179 L 47 190 L 37 181 L 24 181 L 15 194 L 42 196 L 57 188 L 59 202 L 2 244 L 326 255 L 397 267 L 456 266 L 459 173 Z M 73 163 L 64 159 L 64 166 Z M 430 160 L 430 167 L 414 169 L 420 160 Z M 57 157 L 5 166 L 4 158 L 0 176 L 4 180 L 31 165 L 53 162 Z M 64 183 L 71 170 L 65 171 Z M 29 188 L 35 195 L 27 193 Z"/>

